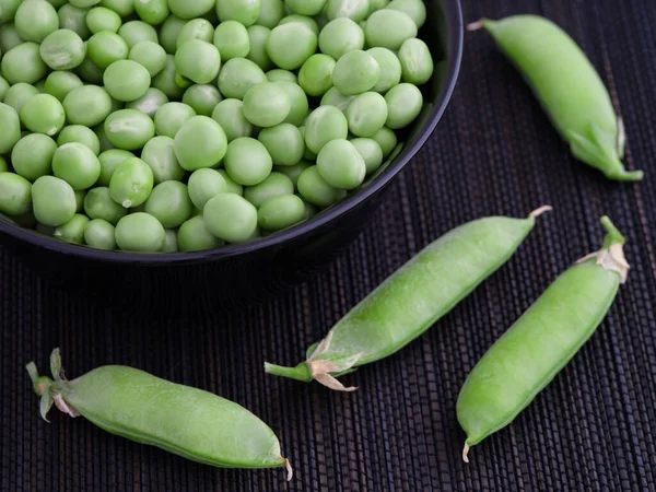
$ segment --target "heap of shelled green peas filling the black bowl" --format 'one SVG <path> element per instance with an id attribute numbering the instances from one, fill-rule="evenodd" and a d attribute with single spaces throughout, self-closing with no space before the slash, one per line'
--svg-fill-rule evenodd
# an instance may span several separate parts
<path id="1" fill-rule="evenodd" d="M 199 251 L 359 188 L 423 107 L 422 0 L 0 0 L 0 213 Z"/>

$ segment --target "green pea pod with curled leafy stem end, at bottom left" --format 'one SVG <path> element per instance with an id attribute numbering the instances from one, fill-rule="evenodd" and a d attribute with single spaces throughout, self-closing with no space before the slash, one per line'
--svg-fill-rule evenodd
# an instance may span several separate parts
<path id="1" fill-rule="evenodd" d="M 107 365 L 73 380 L 61 376 L 59 349 L 50 355 L 54 380 L 26 366 L 47 420 L 52 403 L 112 434 L 221 468 L 288 469 L 273 431 L 237 403 L 132 367 Z"/>

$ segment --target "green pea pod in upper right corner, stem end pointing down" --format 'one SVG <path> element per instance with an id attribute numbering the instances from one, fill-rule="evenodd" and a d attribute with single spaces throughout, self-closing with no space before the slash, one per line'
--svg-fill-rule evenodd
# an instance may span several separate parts
<path id="1" fill-rule="evenodd" d="M 624 128 L 608 90 L 576 43 L 539 15 L 483 19 L 468 26 L 485 28 L 519 69 L 575 157 L 609 179 L 637 181 L 642 171 L 626 171 Z"/>

